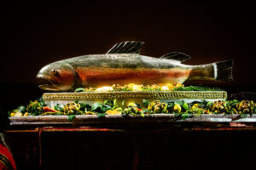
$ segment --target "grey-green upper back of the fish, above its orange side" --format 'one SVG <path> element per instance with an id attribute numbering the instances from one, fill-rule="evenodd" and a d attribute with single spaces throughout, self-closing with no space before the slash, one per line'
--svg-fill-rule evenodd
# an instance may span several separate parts
<path id="1" fill-rule="evenodd" d="M 139 54 L 93 54 L 64 59 L 61 62 L 69 63 L 74 69 L 81 67 L 99 68 L 157 68 L 168 69 L 174 67 L 188 67 L 170 59 L 157 59 Z"/>

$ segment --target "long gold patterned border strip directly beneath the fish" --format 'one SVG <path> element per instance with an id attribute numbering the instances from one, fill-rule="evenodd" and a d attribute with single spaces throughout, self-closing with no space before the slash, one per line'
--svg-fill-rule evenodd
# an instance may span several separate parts
<path id="1" fill-rule="evenodd" d="M 84 92 L 45 93 L 43 99 L 96 100 L 96 99 L 227 99 L 225 91 L 169 91 L 169 92 Z"/>

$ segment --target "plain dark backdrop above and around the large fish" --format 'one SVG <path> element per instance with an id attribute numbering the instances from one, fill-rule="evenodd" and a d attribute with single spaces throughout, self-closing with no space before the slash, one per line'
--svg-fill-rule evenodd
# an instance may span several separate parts
<path id="1" fill-rule="evenodd" d="M 253 3 L 235 1 L 13 1 L 1 4 L 1 88 L 4 110 L 37 99 L 40 68 L 83 54 L 104 54 L 116 42 L 146 42 L 142 54 L 172 51 L 185 64 L 235 59 L 231 92 L 255 91 Z M 12 100 L 11 104 L 6 100 Z"/>

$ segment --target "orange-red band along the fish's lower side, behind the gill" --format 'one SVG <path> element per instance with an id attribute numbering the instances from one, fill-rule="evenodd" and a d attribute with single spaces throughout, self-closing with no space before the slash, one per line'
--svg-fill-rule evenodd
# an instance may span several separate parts
<path id="1" fill-rule="evenodd" d="M 111 86 L 113 84 L 152 84 L 152 83 L 177 83 L 183 82 L 184 78 L 189 77 L 189 70 L 182 71 L 177 68 L 172 69 L 127 69 L 127 68 L 90 68 L 78 69 L 79 80 L 82 86 L 97 87 L 100 85 Z M 86 82 L 86 83 L 83 83 Z M 88 85 L 89 84 L 89 85 Z"/>

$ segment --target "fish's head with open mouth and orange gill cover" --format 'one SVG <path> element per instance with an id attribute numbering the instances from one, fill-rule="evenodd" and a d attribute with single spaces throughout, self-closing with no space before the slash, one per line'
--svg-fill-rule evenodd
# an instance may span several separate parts
<path id="1" fill-rule="evenodd" d="M 38 87 L 48 91 L 68 91 L 75 83 L 75 71 L 72 65 L 66 62 L 55 62 L 45 65 L 37 78 L 43 82 Z"/>

